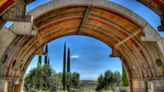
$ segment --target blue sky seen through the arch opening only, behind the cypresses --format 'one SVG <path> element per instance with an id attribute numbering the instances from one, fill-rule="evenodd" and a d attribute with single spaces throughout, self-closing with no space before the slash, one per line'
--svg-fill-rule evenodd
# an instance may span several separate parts
<path id="1" fill-rule="evenodd" d="M 122 70 L 120 59 L 110 58 L 112 50 L 103 42 L 87 36 L 66 36 L 48 44 L 50 64 L 56 72 L 63 69 L 64 42 L 71 51 L 71 71 L 80 73 L 81 79 L 95 80 L 105 70 Z M 37 62 L 35 56 L 29 69 L 36 67 Z"/>

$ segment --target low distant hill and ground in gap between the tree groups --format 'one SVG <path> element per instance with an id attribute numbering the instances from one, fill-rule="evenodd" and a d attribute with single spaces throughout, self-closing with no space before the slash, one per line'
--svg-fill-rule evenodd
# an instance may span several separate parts
<path id="1" fill-rule="evenodd" d="M 97 81 L 94 80 L 80 80 L 80 89 L 96 89 Z"/>

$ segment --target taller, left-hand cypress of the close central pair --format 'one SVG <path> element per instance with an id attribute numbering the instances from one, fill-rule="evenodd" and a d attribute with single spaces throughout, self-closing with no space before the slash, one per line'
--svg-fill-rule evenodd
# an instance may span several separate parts
<path id="1" fill-rule="evenodd" d="M 63 83 L 63 90 L 66 89 L 66 43 L 64 44 L 64 53 L 63 53 L 63 78 L 62 78 L 62 83 Z"/>

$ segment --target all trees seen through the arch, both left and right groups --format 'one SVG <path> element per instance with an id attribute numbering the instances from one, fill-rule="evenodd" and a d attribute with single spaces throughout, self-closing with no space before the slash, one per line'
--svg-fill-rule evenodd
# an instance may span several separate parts
<path id="1" fill-rule="evenodd" d="M 35 90 L 51 90 L 52 88 L 70 91 L 71 88 L 78 89 L 80 86 L 80 74 L 71 72 L 71 52 L 64 44 L 63 52 L 63 72 L 56 73 L 50 65 L 48 58 L 48 45 L 45 46 L 44 64 L 42 64 L 42 56 L 38 56 L 38 64 L 36 68 L 30 70 L 25 77 L 24 88 L 27 92 Z M 122 68 L 122 77 L 120 72 L 111 70 L 100 74 L 97 79 L 96 91 L 116 90 L 122 82 L 123 86 L 128 86 L 128 78 L 124 67 Z"/>

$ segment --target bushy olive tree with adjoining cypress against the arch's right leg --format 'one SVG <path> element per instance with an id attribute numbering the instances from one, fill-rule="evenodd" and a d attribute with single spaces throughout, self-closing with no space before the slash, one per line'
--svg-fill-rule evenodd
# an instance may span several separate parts
<path id="1" fill-rule="evenodd" d="M 111 70 L 105 71 L 104 74 L 100 74 L 97 79 L 98 85 L 96 87 L 96 91 L 102 90 L 113 90 L 116 88 L 128 87 L 128 77 L 125 71 L 124 66 L 122 65 L 122 76 L 119 71 L 112 72 Z"/>

